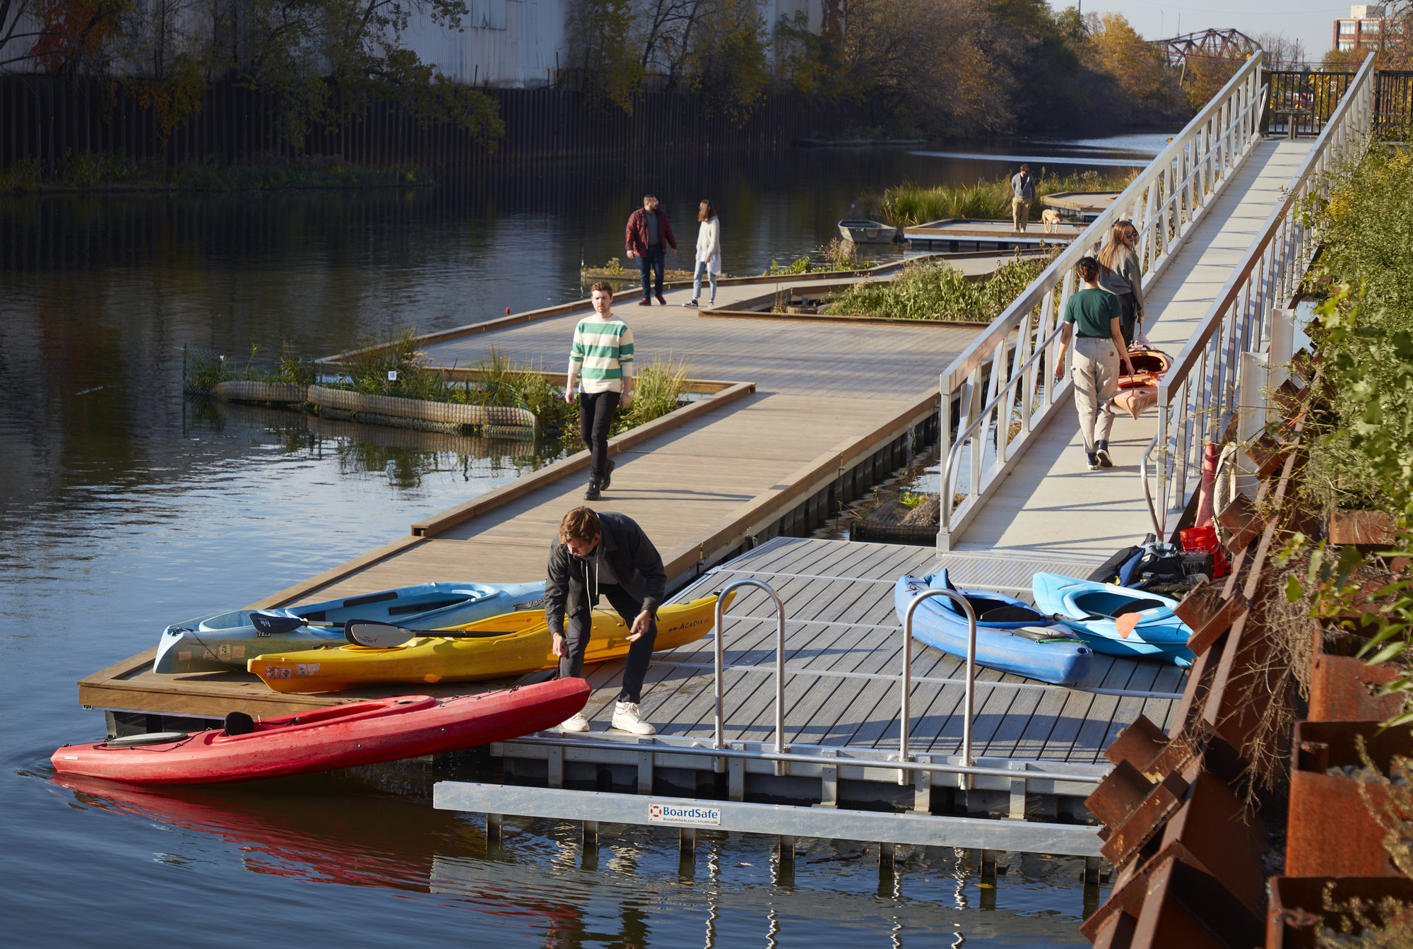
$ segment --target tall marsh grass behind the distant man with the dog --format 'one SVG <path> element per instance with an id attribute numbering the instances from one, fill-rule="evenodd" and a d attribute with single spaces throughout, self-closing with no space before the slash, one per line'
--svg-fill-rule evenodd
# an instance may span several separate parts
<path id="1" fill-rule="evenodd" d="M 1104 175 L 1085 171 L 1064 178 L 1046 177 L 1041 169 L 1036 182 L 1036 202 L 1058 191 L 1123 191 L 1133 175 Z M 883 193 L 865 193 L 856 203 L 868 209 L 865 216 L 876 217 L 894 227 L 911 227 L 928 220 L 971 217 L 1003 220 L 1010 217 L 1010 179 L 976 181 L 971 185 L 937 185 L 924 188 L 904 182 Z M 1031 220 L 1040 219 L 1040 209 L 1031 205 Z"/>

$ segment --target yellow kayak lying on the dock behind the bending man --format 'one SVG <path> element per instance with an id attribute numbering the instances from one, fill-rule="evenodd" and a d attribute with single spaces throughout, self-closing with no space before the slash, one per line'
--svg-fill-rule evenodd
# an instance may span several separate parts
<path id="1" fill-rule="evenodd" d="M 691 603 L 658 607 L 654 650 L 671 650 L 704 637 L 715 621 L 715 593 Z M 447 627 L 447 631 L 451 630 L 489 635 L 447 638 L 432 631 L 386 650 L 349 644 L 271 652 L 250 659 L 246 668 L 276 692 L 336 692 L 382 682 L 499 679 L 560 664 L 550 651 L 550 627 L 540 611 L 506 613 Z M 593 610 L 593 631 L 584 661 L 620 659 L 627 655 L 627 626 L 619 614 Z"/>

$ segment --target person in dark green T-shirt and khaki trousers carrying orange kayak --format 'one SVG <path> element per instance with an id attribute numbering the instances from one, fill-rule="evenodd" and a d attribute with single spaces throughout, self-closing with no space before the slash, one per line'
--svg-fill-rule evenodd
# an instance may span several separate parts
<path id="1" fill-rule="evenodd" d="M 1129 374 L 1128 347 L 1119 329 L 1119 301 L 1099 290 L 1099 261 L 1081 257 L 1075 265 L 1084 288 L 1070 297 L 1064 308 L 1064 332 L 1056 357 L 1056 378 L 1064 377 L 1064 354 L 1074 340 L 1070 378 L 1074 380 L 1074 407 L 1080 412 L 1084 450 L 1089 470 L 1113 467 L 1109 458 L 1109 429 L 1113 426 L 1113 395 L 1119 391 L 1119 360 Z"/>

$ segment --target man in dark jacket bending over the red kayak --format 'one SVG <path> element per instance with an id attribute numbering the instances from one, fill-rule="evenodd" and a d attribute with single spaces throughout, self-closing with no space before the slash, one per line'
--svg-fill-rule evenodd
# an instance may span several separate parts
<path id="1" fill-rule="evenodd" d="M 602 593 L 629 627 L 627 665 L 613 708 L 613 727 L 633 734 L 657 730 L 639 715 L 637 703 L 657 641 L 657 607 L 666 586 L 663 558 L 632 518 L 577 507 L 560 521 L 544 583 L 544 614 L 554 635 L 554 654 L 560 657 L 560 675 L 584 675 L 584 651 L 593 628 L 591 610 Z M 589 720 L 578 713 L 560 727 L 588 732 Z"/>

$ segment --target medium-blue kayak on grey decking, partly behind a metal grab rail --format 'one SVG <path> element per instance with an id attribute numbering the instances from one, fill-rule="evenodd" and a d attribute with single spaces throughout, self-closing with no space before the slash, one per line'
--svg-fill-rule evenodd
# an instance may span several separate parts
<path id="1" fill-rule="evenodd" d="M 927 589 L 950 589 L 966 597 L 976 613 L 976 664 L 998 672 L 1074 685 L 1089 674 L 1094 651 L 1064 626 L 1013 596 L 991 590 L 958 590 L 947 571 L 933 576 L 900 576 L 893 586 L 899 621 L 907 604 Z M 933 596 L 913 613 L 913 638 L 961 659 L 966 658 L 966 616 L 957 603 Z"/>

